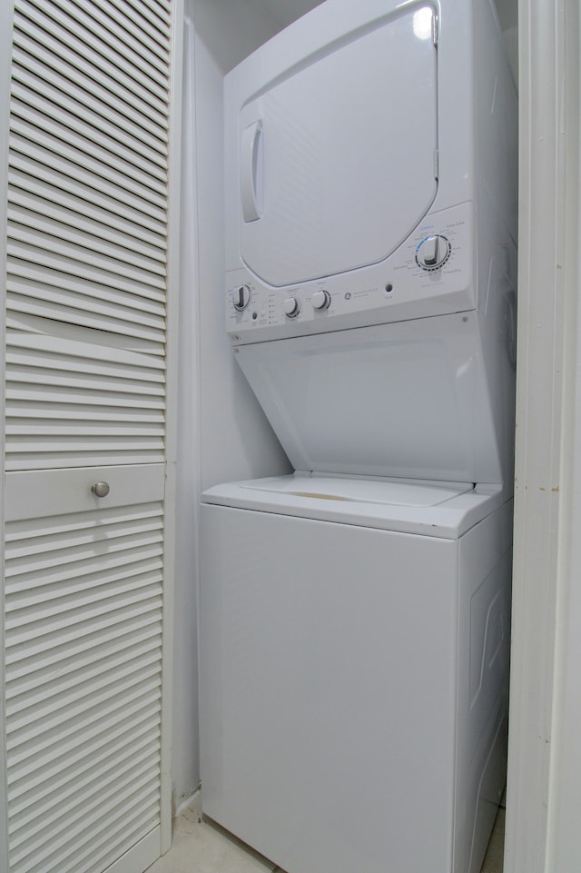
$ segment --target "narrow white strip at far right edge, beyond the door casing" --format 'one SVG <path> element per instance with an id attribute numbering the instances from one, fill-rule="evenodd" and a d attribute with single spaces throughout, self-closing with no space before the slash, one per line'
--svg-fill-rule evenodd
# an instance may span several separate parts
<path id="1" fill-rule="evenodd" d="M 547 873 L 577 873 L 581 869 L 581 15 L 576 3 L 560 8 L 566 65 L 563 184 L 565 197 L 566 358 L 563 406 L 566 431 L 562 444 L 562 522 L 559 525 L 557 577 L 553 755 L 549 782 Z"/>

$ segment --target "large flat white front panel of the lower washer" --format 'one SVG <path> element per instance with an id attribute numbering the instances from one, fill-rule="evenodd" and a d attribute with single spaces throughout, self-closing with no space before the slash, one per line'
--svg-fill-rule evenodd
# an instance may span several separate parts
<path id="1" fill-rule="evenodd" d="M 451 869 L 457 556 L 202 505 L 206 815 L 288 873 Z"/>

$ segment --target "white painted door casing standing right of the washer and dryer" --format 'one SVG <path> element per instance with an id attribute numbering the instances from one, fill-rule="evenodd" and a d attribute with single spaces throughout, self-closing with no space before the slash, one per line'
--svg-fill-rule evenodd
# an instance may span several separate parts
<path id="1" fill-rule="evenodd" d="M 505 873 L 547 866 L 557 578 L 568 483 L 563 115 L 567 0 L 520 0 L 515 561 Z"/>

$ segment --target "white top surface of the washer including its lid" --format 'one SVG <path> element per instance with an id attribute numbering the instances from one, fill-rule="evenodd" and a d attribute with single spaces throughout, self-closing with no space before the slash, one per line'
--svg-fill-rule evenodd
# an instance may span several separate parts
<path id="1" fill-rule="evenodd" d="M 311 472 L 230 482 L 202 501 L 385 531 L 456 540 L 502 503 L 501 486 L 356 479 Z"/>

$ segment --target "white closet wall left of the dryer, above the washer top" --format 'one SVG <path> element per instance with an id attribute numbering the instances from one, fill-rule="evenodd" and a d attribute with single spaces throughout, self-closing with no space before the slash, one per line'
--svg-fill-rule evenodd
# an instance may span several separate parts
<path id="1" fill-rule="evenodd" d="M 222 80 L 274 31 L 245 0 L 194 0 L 193 14 L 203 489 L 289 467 L 234 360 L 224 315 Z"/>

